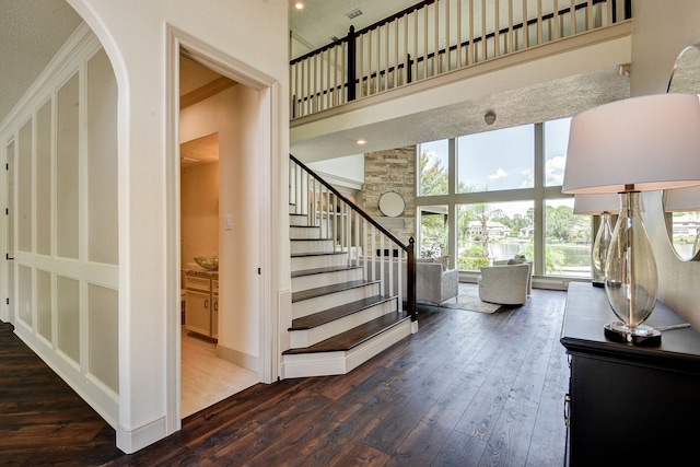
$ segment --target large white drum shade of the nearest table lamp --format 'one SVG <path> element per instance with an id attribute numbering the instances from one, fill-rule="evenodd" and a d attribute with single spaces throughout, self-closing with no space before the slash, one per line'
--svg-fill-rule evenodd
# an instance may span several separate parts
<path id="1" fill-rule="evenodd" d="M 562 192 L 648 191 L 699 184 L 697 95 L 626 98 L 571 120 Z"/>

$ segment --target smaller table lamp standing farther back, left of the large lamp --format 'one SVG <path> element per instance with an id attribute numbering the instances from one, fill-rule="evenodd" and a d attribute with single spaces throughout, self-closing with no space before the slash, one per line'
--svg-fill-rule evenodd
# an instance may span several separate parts
<path id="1" fill-rule="evenodd" d="M 600 215 L 600 225 L 593 242 L 593 287 L 605 287 L 605 261 L 612 240 L 610 215 L 620 209 L 620 196 L 615 192 L 603 195 L 576 195 L 573 213 L 579 215 Z"/>

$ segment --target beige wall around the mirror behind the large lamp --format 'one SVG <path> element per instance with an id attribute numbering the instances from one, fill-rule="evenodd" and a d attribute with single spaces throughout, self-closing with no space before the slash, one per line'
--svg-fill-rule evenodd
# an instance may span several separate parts
<path id="1" fill-rule="evenodd" d="M 700 2 L 697 0 L 635 0 L 632 36 L 632 95 L 666 92 L 678 54 L 700 43 Z M 660 154 L 663 157 L 664 154 Z M 662 195 L 644 197 L 644 221 L 652 241 L 658 270 L 658 299 L 700 328 L 700 261 L 684 262 L 676 258 L 666 236 L 662 212 Z"/>

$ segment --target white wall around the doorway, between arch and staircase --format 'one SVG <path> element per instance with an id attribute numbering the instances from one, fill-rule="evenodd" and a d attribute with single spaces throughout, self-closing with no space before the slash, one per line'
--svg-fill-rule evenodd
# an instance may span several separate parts
<path id="1" fill-rule="evenodd" d="M 68 0 L 102 42 L 117 78 L 119 148 L 119 413 L 117 445 L 133 452 L 177 429 L 179 318 L 177 57 L 183 44 L 215 56 L 225 69 L 260 87 L 265 108 L 256 126 L 256 154 L 270 187 L 287 179 L 289 116 L 287 2 L 282 0 Z M 281 178 L 281 177 L 284 178 Z M 281 205 L 272 190 L 269 206 Z M 268 207 L 268 209 L 270 209 Z M 276 254 L 279 232 L 260 241 Z M 281 223 L 284 225 L 284 223 Z M 289 257 L 289 254 L 287 255 Z M 268 264 L 277 264 L 277 255 Z M 273 269 L 273 270 L 270 270 Z M 278 283 L 289 288 L 289 265 L 269 268 L 271 307 Z M 282 278 L 280 280 L 280 278 Z M 284 280 L 284 278 L 287 278 Z M 270 318 L 270 319 L 273 319 Z M 271 366 L 268 364 L 268 366 Z"/>

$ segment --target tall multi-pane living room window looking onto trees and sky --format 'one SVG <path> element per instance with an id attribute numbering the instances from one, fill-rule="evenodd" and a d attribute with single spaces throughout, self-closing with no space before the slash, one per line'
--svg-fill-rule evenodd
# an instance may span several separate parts
<path id="1" fill-rule="evenodd" d="M 591 217 L 561 194 L 570 118 L 418 148 L 421 256 L 462 270 L 524 255 L 534 273 L 591 277 Z"/>

